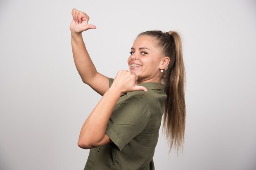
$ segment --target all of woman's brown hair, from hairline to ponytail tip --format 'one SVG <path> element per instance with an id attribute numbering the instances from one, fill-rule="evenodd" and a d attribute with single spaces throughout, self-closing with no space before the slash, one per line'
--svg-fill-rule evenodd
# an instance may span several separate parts
<path id="1" fill-rule="evenodd" d="M 146 31 L 140 35 L 148 35 L 157 39 L 163 54 L 170 58 L 168 69 L 162 74 L 164 91 L 167 99 L 164 108 L 164 132 L 170 144 L 177 151 L 183 148 L 186 105 L 184 98 L 185 68 L 182 55 L 182 42 L 180 35 L 175 31 L 162 33 L 162 31 Z"/>

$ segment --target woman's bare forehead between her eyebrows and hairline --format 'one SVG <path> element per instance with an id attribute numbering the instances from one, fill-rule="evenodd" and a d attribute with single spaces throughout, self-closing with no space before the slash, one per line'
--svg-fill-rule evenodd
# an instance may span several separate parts
<path id="1" fill-rule="evenodd" d="M 157 40 L 154 37 L 148 35 L 141 35 L 137 37 L 133 43 L 133 48 L 147 47 L 147 48 L 158 48 Z"/>

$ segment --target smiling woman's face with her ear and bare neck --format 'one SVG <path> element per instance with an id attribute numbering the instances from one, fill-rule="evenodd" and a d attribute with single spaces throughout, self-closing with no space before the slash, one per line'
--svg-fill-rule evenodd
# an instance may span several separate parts
<path id="1" fill-rule="evenodd" d="M 138 83 L 160 81 L 161 69 L 165 68 L 166 63 L 155 38 L 146 35 L 137 37 L 130 53 L 129 69 L 139 77 Z"/>

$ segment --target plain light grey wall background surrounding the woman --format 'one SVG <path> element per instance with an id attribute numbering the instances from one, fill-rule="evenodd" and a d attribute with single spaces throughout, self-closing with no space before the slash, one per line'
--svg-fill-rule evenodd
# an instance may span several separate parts
<path id="1" fill-rule="evenodd" d="M 255 0 L 1 0 L 0 169 L 82 170 L 80 128 L 100 99 L 72 58 L 75 7 L 96 30 L 83 33 L 99 72 L 128 70 L 138 33 L 179 31 L 186 66 L 184 151 L 160 131 L 156 170 L 256 169 Z"/>

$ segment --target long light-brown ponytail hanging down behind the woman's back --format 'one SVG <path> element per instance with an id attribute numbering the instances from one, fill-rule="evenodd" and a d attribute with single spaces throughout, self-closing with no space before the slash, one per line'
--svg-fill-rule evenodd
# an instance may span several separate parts
<path id="1" fill-rule="evenodd" d="M 170 31 L 173 36 L 173 49 L 171 49 L 174 61 L 169 63 L 170 70 L 163 75 L 167 99 L 164 108 L 164 130 L 170 150 L 174 146 L 177 150 L 183 146 L 186 120 L 186 105 L 184 98 L 185 68 L 182 56 L 182 44 L 180 36 Z"/>

